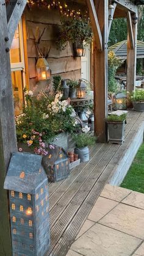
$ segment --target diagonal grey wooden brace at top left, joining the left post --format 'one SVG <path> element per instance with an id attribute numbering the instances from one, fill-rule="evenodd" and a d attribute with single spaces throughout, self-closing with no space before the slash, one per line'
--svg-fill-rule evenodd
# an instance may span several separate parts
<path id="1" fill-rule="evenodd" d="M 16 4 L 14 6 L 12 5 L 12 11 L 8 23 L 9 48 L 12 45 L 13 36 L 23 14 L 26 3 L 27 0 L 17 0 Z"/>

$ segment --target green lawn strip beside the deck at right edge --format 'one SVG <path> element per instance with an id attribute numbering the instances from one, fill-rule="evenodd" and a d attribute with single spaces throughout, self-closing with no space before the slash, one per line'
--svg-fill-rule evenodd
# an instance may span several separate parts
<path id="1" fill-rule="evenodd" d="M 144 193 L 144 144 L 139 148 L 121 187 Z"/>

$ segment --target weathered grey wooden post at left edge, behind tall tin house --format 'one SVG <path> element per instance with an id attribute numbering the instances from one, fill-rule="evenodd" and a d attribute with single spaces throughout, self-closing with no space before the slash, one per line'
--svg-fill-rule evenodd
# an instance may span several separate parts
<path id="1" fill-rule="evenodd" d="M 1 1 L 2 4 L 4 2 Z M 9 41 L 7 42 L 7 13 L 5 5 L 2 4 L 0 4 L 0 255 L 10 256 L 12 253 L 9 207 L 7 191 L 3 187 L 11 153 L 17 148 Z"/>

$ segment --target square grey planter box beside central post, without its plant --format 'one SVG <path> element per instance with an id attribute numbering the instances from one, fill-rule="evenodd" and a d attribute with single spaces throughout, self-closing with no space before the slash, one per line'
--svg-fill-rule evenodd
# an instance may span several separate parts
<path id="1" fill-rule="evenodd" d="M 107 122 L 108 141 L 111 143 L 123 144 L 124 127 L 125 120 L 123 122 Z"/>

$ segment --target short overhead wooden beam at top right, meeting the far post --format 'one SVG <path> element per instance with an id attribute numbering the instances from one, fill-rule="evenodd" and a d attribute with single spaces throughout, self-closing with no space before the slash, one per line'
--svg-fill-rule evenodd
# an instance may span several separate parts
<path id="1" fill-rule="evenodd" d="M 137 12 L 137 5 L 131 0 L 114 0 L 117 4 L 117 8 L 121 10 L 129 10 L 130 12 Z"/>

